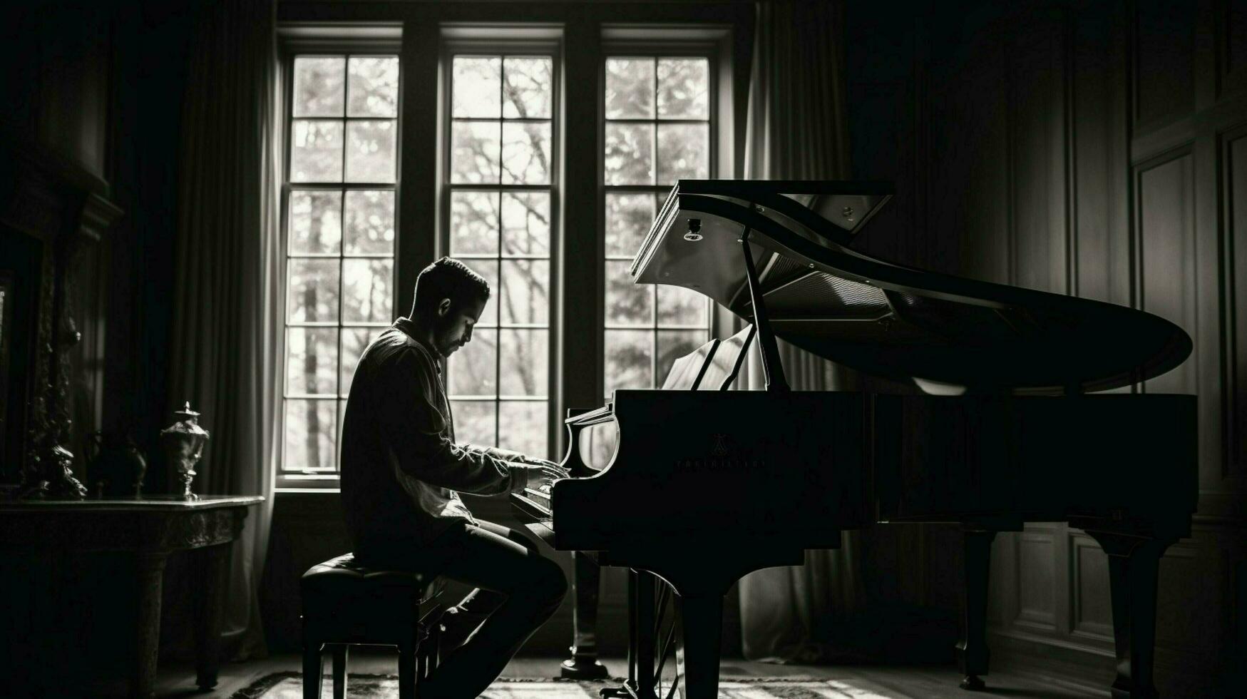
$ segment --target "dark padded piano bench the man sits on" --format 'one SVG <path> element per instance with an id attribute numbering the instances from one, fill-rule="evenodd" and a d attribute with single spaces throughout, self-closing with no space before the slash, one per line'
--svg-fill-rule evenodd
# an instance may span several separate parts
<path id="1" fill-rule="evenodd" d="M 368 568 L 344 554 L 303 573 L 303 699 L 320 698 L 320 653 L 333 652 L 333 697 L 347 695 L 350 645 L 397 645 L 399 698 L 438 663 L 443 583 L 423 573 Z"/>

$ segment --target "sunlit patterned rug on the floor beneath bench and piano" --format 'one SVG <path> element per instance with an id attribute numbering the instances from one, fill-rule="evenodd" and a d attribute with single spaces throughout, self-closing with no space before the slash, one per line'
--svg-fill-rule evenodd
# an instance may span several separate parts
<path id="1" fill-rule="evenodd" d="M 614 682 L 564 679 L 499 679 L 481 694 L 485 699 L 599 699 L 597 690 Z M 359 699 L 398 697 L 398 675 L 349 675 L 347 695 Z M 839 680 L 804 678 L 733 678 L 718 683 L 721 699 L 889 699 L 869 689 Z M 322 697 L 333 697 L 333 684 L 324 678 Z M 299 673 L 276 673 L 256 680 L 231 699 L 303 699 Z"/>

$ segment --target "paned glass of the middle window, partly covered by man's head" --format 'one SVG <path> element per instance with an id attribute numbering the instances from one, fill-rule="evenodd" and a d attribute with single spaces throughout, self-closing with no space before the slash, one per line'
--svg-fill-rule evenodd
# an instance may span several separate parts
<path id="1" fill-rule="evenodd" d="M 444 250 L 493 291 L 448 359 L 455 438 L 549 454 L 555 55 L 448 51 Z"/>

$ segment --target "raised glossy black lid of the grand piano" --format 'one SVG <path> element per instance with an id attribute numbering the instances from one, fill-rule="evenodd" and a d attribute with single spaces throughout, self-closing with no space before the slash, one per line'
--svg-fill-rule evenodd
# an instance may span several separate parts
<path id="1" fill-rule="evenodd" d="M 698 291 L 754 322 L 741 246 L 748 240 L 776 337 L 927 389 L 1102 391 L 1160 376 L 1191 353 L 1182 328 L 1143 311 L 852 250 L 890 197 L 880 182 L 681 180 L 632 280 Z"/>

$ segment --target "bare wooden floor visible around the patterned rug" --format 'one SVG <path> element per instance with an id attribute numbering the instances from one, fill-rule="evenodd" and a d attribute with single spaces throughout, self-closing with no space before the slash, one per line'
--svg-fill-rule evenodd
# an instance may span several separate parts
<path id="1" fill-rule="evenodd" d="M 624 659 L 606 659 L 607 669 L 615 677 L 627 674 Z M 394 674 L 397 659 L 383 649 L 353 652 L 349 672 L 363 674 Z M 264 660 L 232 663 L 222 668 L 221 683 L 216 690 L 200 694 L 195 687 L 195 670 L 188 665 L 162 667 L 156 687 L 156 697 L 219 697 L 228 698 L 256 679 L 271 673 L 299 670 L 297 655 L 276 655 Z M 329 670 L 328 658 L 325 672 Z M 516 658 L 506 667 L 504 677 L 542 678 L 556 677 L 559 659 Z M 862 699 L 973 699 L 975 697 L 1009 697 L 1011 699 L 1086 699 L 1109 695 L 1104 688 L 1086 687 L 1072 682 L 1020 672 L 993 672 L 985 679 L 988 690 L 968 693 L 958 688 L 960 675 L 951 665 L 884 667 L 884 665 L 773 665 L 739 659 L 723 659 L 721 675 L 729 680 L 736 677 L 806 677 L 837 680 L 859 692 Z"/>

